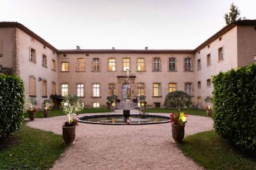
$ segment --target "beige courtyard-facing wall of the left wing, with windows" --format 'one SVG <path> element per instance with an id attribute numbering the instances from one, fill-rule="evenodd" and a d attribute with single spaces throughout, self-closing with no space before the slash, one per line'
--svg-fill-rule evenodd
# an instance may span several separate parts
<path id="1" fill-rule="evenodd" d="M 17 28 L 17 51 L 19 54 L 19 69 L 20 77 L 24 81 L 25 97 L 29 97 L 29 77 L 33 75 L 36 78 L 36 100 L 37 107 L 42 106 L 42 102 L 45 99 L 49 99 L 51 95 L 51 82 L 58 84 L 58 71 L 51 70 L 51 61 L 54 59 L 58 63 L 57 54 L 53 53 L 47 46 L 44 49 L 44 45 L 38 42 L 36 39 Z M 30 47 L 36 51 L 36 63 L 29 61 Z M 42 55 L 47 56 L 47 68 L 42 66 Z M 58 66 L 57 66 L 58 69 Z M 42 81 L 38 81 L 38 78 L 45 79 L 47 81 L 47 98 L 42 97 Z M 58 86 L 56 86 L 58 92 Z"/>

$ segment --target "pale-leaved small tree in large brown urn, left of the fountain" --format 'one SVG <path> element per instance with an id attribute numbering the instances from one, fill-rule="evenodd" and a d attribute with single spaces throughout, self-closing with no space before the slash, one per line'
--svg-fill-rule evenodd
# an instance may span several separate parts
<path id="1" fill-rule="evenodd" d="M 76 138 L 76 125 L 78 124 L 73 115 L 80 110 L 83 110 L 83 103 L 81 103 L 79 97 L 67 95 L 64 98 L 63 112 L 67 115 L 68 120 L 62 126 L 62 136 L 66 144 L 73 143 L 74 138 Z"/>

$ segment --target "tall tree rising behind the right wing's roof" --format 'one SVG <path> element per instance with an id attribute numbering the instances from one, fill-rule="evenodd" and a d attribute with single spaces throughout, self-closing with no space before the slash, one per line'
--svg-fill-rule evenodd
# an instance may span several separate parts
<path id="1" fill-rule="evenodd" d="M 228 24 L 233 23 L 237 20 L 246 19 L 246 17 L 239 17 L 239 16 L 240 16 L 240 10 L 232 2 L 231 5 L 230 5 L 229 13 L 225 13 L 225 15 L 224 15 L 226 24 L 228 25 Z"/>

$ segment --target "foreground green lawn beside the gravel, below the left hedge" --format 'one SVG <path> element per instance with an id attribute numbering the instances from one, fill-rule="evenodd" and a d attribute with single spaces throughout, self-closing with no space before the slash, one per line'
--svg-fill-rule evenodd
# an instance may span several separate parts
<path id="1" fill-rule="evenodd" d="M 65 149 L 62 135 L 22 125 L 5 144 L 0 143 L 0 169 L 48 169 Z"/>

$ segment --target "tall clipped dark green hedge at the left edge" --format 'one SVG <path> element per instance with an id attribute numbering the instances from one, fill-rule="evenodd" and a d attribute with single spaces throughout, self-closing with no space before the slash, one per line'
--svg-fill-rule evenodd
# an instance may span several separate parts
<path id="1" fill-rule="evenodd" d="M 24 85 L 16 75 L 0 74 L 0 140 L 17 131 L 23 121 Z"/>

